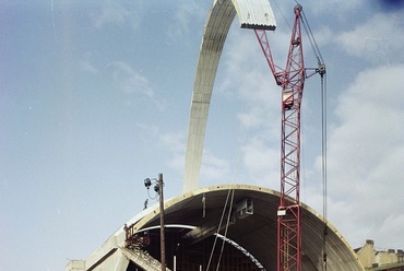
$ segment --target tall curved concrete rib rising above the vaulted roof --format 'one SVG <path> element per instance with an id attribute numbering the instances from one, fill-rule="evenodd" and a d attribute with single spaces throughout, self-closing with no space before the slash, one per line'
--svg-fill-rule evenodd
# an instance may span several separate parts
<path id="1" fill-rule="evenodd" d="M 223 46 L 236 13 L 241 27 L 276 27 L 268 0 L 214 1 L 202 37 L 192 92 L 183 176 L 185 192 L 198 188 L 212 89 Z"/>

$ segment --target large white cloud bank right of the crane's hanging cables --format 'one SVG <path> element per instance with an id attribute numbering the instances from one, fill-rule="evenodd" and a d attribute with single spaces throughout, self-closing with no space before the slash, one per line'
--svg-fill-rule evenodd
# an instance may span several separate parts
<path id="1" fill-rule="evenodd" d="M 396 225 L 391 215 L 404 213 L 402 74 L 404 66 L 363 71 L 336 107 L 329 137 L 329 213 L 354 245 L 364 238 L 384 244 L 387 225 Z"/>

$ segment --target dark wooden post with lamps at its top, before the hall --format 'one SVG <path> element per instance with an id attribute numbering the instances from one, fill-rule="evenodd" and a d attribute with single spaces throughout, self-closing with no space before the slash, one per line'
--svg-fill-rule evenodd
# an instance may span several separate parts
<path id="1" fill-rule="evenodd" d="M 166 270 L 166 241 L 164 237 L 164 198 L 163 198 L 163 173 L 158 174 L 158 179 L 144 179 L 144 186 L 148 188 L 152 186 L 152 180 L 154 180 L 154 191 L 159 196 L 159 239 L 161 239 L 161 252 L 162 252 L 162 271 Z"/>

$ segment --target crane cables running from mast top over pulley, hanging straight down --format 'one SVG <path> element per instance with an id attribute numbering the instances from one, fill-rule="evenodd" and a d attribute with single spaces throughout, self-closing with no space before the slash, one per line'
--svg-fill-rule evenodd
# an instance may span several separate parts
<path id="1" fill-rule="evenodd" d="M 296 1 L 297 2 L 297 1 Z M 326 271 L 326 236 L 328 236 L 328 207 L 326 207 L 326 74 L 325 74 L 325 64 L 321 56 L 320 49 L 317 45 L 314 35 L 311 32 L 310 25 L 307 21 L 305 12 L 301 10 L 301 23 L 307 32 L 311 48 L 316 55 L 318 61 L 318 68 L 316 72 L 321 75 L 321 178 L 322 178 L 322 197 L 323 197 L 323 248 L 322 248 L 322 258 L 323 258 L 323 270 Z"/>

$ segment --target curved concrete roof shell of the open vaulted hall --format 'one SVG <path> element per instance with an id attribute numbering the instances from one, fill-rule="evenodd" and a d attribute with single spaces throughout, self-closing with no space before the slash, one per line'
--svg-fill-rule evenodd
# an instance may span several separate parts
<path id="1" fill-rule="evenodd" d="M 185 229 L 178 235 L 180 239 L 170 241 L 189 239 L 197 244 L 214 236 L 230 191 L 234 191 L 234 200 L 231 207 L 228 201 L 227 210 L 230 208 L 231 212 L 235 212 L 238 202 L 250 199 L 253 213 L 242 219 L 233 219 L 227 228 L 227 238 L 245 248 L 265 270 L 276 270 L 276 211 L 280 193 L 271 189 L 249 185 L 218 185 L 197 189 L 166 201 L 167 231 L 170 226 Z M 302 203 L 301 205 L 302 270 L 322 270 L 324 222 L 314 210 Z M 151 208 L 144 214 L 133 223 L 135 231 L 142 232 L 159 225 L 158 207 Z M 328 270 L 364 270 L 357 255 L 344 237 L 330 223 L 328 227 L 325 238 Z M 221 232 L 223 233 L 224 231 Z"/>

